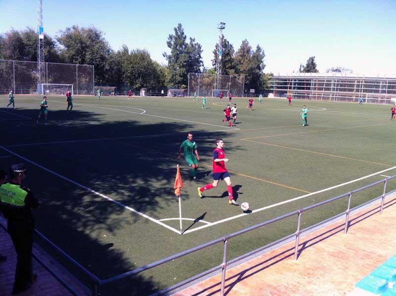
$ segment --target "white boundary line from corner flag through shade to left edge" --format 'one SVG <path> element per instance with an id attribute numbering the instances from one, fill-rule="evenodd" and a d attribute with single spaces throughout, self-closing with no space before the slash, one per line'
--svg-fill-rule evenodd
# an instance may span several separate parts
<path id="1" fill-rule="evenodd" d="M 66 181 L 69 181 L 69 182 L 73 183 L 74 185 L 77 185 L 77 186 L 79 186 L 79 187 L 81 187 L 83 189 L 86 189 L 86 190 L 88 190 L 88 191 L 90 191 L 90 192 L 92 192 L 92 193 L 94 193 L 96 195 L 99 195 L 100 197 L 102 197 L 104 199 L 107 199 L 108 201 L 111 201 L 111 202 L 123 207 L 124 209 L 127 209 L 127 210 L 129 210 L 131 212 L 134 212 L 135 214 L 138 214 L 138 215 L 140 215 L 140 216 L 142 216 L 144 218 L 147 218 L 148 220 L 150 220 L 152 222 L 155 222 L 155 223 L 157 223 L 157 224 L 159 224 L 159 225 L 161 225 L 161 226 L 163 226 L 163 227 L 165 227 L 165 228 L 167 228 L 167 229 L 169 229 L 169 230 L 171 230 L 171 231 L 173 231 L 173 232 L 175 232 L 177 234 L 180 234 L 180 231 L 174 229 L 173 227 L 170 227 L 170 226 L 168 226 L 168 225 L 166 225 L 166 224 L 164 224 L 164 223 L 162 223 L 162 222 L 160 222 L 160 221 L 158 221 L 158 220 L 156 220 L 154 218 L 151 218 L 151 217 L 147 216 L 146 214 L 143 214 L 143 213 L 141 213 L 141 212 L 139 212 L 139 211 L 137 211 L 137 210 L 135 210 L 135 209 L 133 209 L 131 207 L 128 207 L 128 206 L 124 205 L 123 203 L 121 203 L 119 201 L 116 201 L 116 200 L 114 200 L 114 199 L 112 199 L 112 198 L 110 198 L 110 197 L 108 197 L 108 196 L 106 196 L 106 195 L 104 195 L 102 193 L 99 193 L 99 192 L 97 192 L 97 191 L 95 191 L 95 190 L 93 190 L 93 189 L 91 189 L 91 188 L 89 188 L 87 186 L 84 186 L 84 185 L 82 185 L 82 184 L 80 184 L 80 183 L 78 183 L 76 181 L 73 181 L 73 180 L 71 180 L 69 178 L 66 178 L 66 177 L 64 177 L 64 176 L 62 176 L 62 175 L 60 175 L 58 173 L 55 173 L 54 171 L 51 171 L 51 170 L 49 170 L 49 169 L 47 169 L 47 168 L 45 168 L 45 167 L 33 162 L 33 161 L 31 161 L 31 160 L 29 160 L 29 159 L 27 159 L 27 158 L 15 153 L 15 152 L 12 152 L 11 150 L 8 150 L 7 148 L 4 148 L 2 146 L 0 146 L 0 148 L 2 148 L 3 150 L 7 151 L 8 153 L 11 153 L 11 154 L 13 154 L 13 155 L 15 155 L 15 156 L 17 156 L 17 157 L 29 162 L 29 163 L 35 165 L 35 166 L 37 166 L 37 167 L 39 167 L 39 168 L 41 168 L 41 169 L 43 169 L 43 170 L 45 170 L 47 172 L 59 177 L 59 178 L 65 179 Z"/>

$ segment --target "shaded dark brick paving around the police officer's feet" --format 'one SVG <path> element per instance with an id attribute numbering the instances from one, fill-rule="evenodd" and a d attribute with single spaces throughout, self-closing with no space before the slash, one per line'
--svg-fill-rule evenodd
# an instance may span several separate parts
<path id="1" fill-rule="evenodd" d="M 6 222 L 0 218 L 0 223 L 6 225 Z M 89 291 L 78 280 L 71 276 L 67 271 L 58 265 L 47 253 L 41 250 L 37 245 L 33 246 L 35 253 L 44 261 L 51 270 L 60 278 L 69 284 L 79 295 L 88 295 Z M 5 261 L 0 262 L 0 296 L 11 295 L 12 285 L 14 283 L 16 253 L 11 238 L 0 227 L 0 254 L 7 256 Z M 37 273 L 37 281 L 32 287 L 20 296 L 69 296 L 72 295 L 59 282 L 49 274 L 35 259 L 33 259 L 33 270 Z"/>

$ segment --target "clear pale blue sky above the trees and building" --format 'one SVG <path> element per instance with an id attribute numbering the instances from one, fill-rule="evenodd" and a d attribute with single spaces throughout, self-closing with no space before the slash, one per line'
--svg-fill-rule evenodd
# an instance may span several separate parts
<path id="1" fill-rule="evenodd" d="M 37 0 L 0 0 L 0 32 L 37 26 Z M 211 66 L 217 23 L 237 50 L 247 39 L 265 51 L 265 72 L 297 70 L 310 56 L 318 69 L 396 74 L 396 0 L 44 0 L 44 29 L 55 36 L 74 24 L 99 28 L 114 50 L 122 44 L 162 57 L 180 22 Z"/>

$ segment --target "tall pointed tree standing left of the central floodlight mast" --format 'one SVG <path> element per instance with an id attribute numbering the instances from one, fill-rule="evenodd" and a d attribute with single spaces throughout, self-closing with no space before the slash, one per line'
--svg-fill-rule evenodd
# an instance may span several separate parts
<path id="1" fill-rule="evenodd" d="M 189 72 L 200 72 L 202 62 L 202 49 L 194 38 L 190 38 L 190 43 L 186 42 L 182 24 L 174 28 L 174 34 L 169 34 L 166 45 L 170 49 L 170 54 L 163 53 L 168 60 L 168 85 L 180 88 L 181 85 L 188 84 Z"/>

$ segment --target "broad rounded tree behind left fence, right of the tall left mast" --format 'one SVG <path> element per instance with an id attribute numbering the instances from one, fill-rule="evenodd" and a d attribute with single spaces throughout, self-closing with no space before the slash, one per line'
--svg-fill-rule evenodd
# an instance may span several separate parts
<path id="1" fill-rule="evenodd" d="M 60 56 L 65 62 L 94 65 L 95 82 L 107 82 L 105 68 L 112 50 L 102 31 L 72 26 L 61 31 L 56 40 L 62 46 Z"/>

